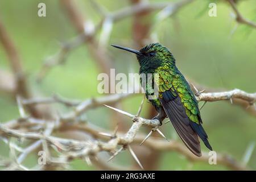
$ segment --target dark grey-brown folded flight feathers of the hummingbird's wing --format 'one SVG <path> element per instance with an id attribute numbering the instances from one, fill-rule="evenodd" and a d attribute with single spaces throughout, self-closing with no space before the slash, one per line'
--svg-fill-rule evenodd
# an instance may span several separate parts
<path id="1" fill-rule="evenodd" d="M 176 93 L 174 96 L 172 92 L 171 90 L 166 90 L 162 93 L 163 98 L 159 100 L 180 139 L 193 154 L 201 156 L 199 137 L 191 127 L 191 121 L 185 112 L 179 95 Z"/>

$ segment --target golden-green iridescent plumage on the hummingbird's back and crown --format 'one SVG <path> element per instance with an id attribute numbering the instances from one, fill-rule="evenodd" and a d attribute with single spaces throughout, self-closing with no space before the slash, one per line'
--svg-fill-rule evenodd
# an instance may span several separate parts
<path id="1" fill-rule="evenodd" d="M 176 92 L 181 98 L 181 102 L 185 107 L 185 111 L 191 119 L 191 121 L 199 124 L 201 121 L 200 112 L 198 109 L 197 100 L 188 85 L 188 82 L 185 80 L 184 76 L 180 73 L 175 65 L 175 59 L 172 56 L 171 52 L 166 48 L 161 46 L 158 43 L 150 44 L 141 49 L 141 52 L 155 52 L 156 60 L 161 61 L 161 65 L 158 65 L 158 68 L 148 69 L 144 68 L 144 64 L 142 64 L 140 73 L 158 73 L 159 80 L 159 97 L 162 98 L 162 93 L 171 89 L 171 93 L 176 97 Z M 175 92 L 176 90 L 176 92 Z M 150 100 L 155 107 L 161 107 L 159 99 Z M 158 108 L 156 108 L 158 110 Z"/>

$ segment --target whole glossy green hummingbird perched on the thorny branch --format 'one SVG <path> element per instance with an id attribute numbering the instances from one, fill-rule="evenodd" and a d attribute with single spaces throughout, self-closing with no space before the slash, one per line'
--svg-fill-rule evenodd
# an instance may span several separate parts
<path id="1" fill-rule="evenodd" d="M 153 119 L 158 119 L 162 125 L 163 119 L 168 117 L 185 146 L 196 156 L 201 156 L 199 137 L 205 146 L 212 150 L 207 133 L 202 126 L 195 94 L 177 69 L 176 60 L 171 51 L 159 43 L 149 44 L 139 51 L 112 46 L 135 53 L 140 65 L 139 74 L 153 75 L 151 82 L 158 86 L 158 97 L 149 100 L 158 111 L 158 115 Z M 158 76 L 157 79 L 154 78 L 155 74 Z M 148 99 L 152 95 L 152 89 L 145 86 L 144 90 Z"/>

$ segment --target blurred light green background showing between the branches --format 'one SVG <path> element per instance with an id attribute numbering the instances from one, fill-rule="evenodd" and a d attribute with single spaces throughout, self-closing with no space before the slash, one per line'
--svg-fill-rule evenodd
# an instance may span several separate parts
<path id="1" fill-rule="evenodd" d="M 47 6 L 47 16 L 37 15 L 38 3 Z M 150 1 L 157 2 L 157 1 Z M 164 1 L 163 1 L 164 2 Z M 98 1 L 109 11 L 129 6 L 129 1 Z M 256 92 L 256 31 L 255 28 L 238 24 L 236 32 L 230 36 L 236 21 L 230 16 L 230 6 L 217 1 L 217 17 L 208 16 L 209 1 L 195 1 L 183 7 L 175 18 L 168 18 L 156 24 L 154 32 L 159 42 L 170 48 L 177 60 L 177 67 L 186 76 L 209 88 L 239 88 L 246 92 Z M 98 22 L 101 16 L 92 8 L 87 0 L 77 0 L 80 11 Z M 256 20 L 256 1 L 242 1 L 239 9 L 251 20 Z M 154 14 L 153 14 L 154 15 Z M 77 35 L 76 29 L 61 9 L 59 1 L 43 0 L 0 0 L 0 18 L 8 34 L 13 39 L 26 70 L 35 96 L 49 97 L 53 93 L 66 98 L 85 100 L 97 93 L 98 65 L 90 57 L 86 44 L 74 49 L 67 58 L 67 63 L 52 69 L 42 83 L 36 83 L 36 74 L 42 67 L 47 56 L 59 50 L 58 42 L 69 40 Z M 131 22 L 126 18 L 114 24 L 109 44 L 133 46 L 131 38 Z M 138 63 L 133 55 L 107 47 L 112 55 L 116 72 L 137 72 Z M 5 51 L 0 48 L 0 68 L 10 71 Z M 142 95 L 130 97 L 122 101 L 123 110 L 136 113 Z M 203 103 L 200 103 L 200 105 Z M 142 116 L 146 117 L 146 103 Z M 0 121 L 5 122 L 19 116 L 16 103 L 8 94 L 0 92 Z M 56 110 L 65 111 L 56 105 Z M 144 114 L 144 115 L 143 115 Z M 102 118 L 102 115 L 106 117 Z M 207 103 L 201 110 L 204 128 L 214 150 L 230 154 L 242 160 L 243 154 L 251 142 L 256 140 L 256 119 L 245 110 L 230 102 L 218 101 Z M 88 113 L 89 121 L 94 125 L 111 129 L 109 109 L 100 107 Z M 127 119 L 125 125 L 130 126 Z M 176 138 L 170 125 L 162 127 L 168 138 Z M 143 132 L 143 130 L 142 130 Z M 202 145 L 203 150 L 207 149 Z M 0 142 L 0 154 L 7 155 L 7 146 Z M 160 154 L 159 154 L 160 155 Z M 36 156 L 25 161 L 32 166 Z M 123 152 L 114 163 L 129 166 L 133 163 L 131 156 Z M 249 167 L 256 169 L 256 150 L 253 151 Z M 96 169 L 89 167 L 84 161 L 76 160 L 73 169 Z M 206 163 L 189 163 L 176 152 L 163 152 L 160 156 L 158 169 L 228 169 L 221 165 Z"/>

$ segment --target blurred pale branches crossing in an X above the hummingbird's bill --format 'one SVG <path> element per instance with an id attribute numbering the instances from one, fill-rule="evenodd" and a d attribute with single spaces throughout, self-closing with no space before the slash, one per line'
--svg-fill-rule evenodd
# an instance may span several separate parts
<path id="1" fill-rule="evenodd" d="M 142 13 L 143 11 L 152 12 L 156 10 L 163 10 L 167 7 L 168 10 L 166 10 L 166 13 L 168 13 L 168 11 L 174 13 L 178 11 L 181 7 L 187 5 L 192 1 L 193 0 L 181 0 L 175 3 L 143 2 L 130 7 L 125 7 L 112 13 L 109 13 L 108 11 L 104 11 L 104 13 L 102 13 L 103 8 L 100 7 L 96 2 L 92 1 L 94 7 L 96 7 L 96 9 L 100 11 L 100 14 L 102 15 L 102 20 L 100 20 L 97 25 L 94 25 L 92 22 L 90 22 L 90 20 L 85 22 L 84 18 L 80 18 L 81 16 L 77 13 L 77 9 L 73 5 L 72 1 L 60 1 L 64 6 L 65 10 L 67 11 L 69 18 L 72 20 L 72 22 L 74 22 L 75 27 L 80 32 L 80 34 L 65 43 L 61 43 L 60 50 L 55 53 L 55 55 L 49 56 L 46 60 L 44 60 L 43 67 L 38 74 L 37 80 L 39 82 L 42 81 L 51 68 L 55 67 L 56 65 L 64 64 L 65 60 L 67 59 L 68 53 L 71 52 L 73 49 L 81 46 L 83 43 L 88 43 L 88 46 L 93 53 L 92 56 L 95 58 L 98 64 L 102 66 L 101 71 L 108 73 L 111 68 L 109 67 L 109 65 L 111 65 L 109 57 L 99 57 L 99 55 L 97 54 L 97 52 L 100 51 L 99 49 L 102 48 L 101 46 L 97 46 L 95 40 L 95 36 L 98 31 L 102 30 L 101 38 L 104 38 L 104 40 L 106 41 L 109 39 L 111 32 L 111 30 L 108 31 L 108 27 L 112 27 L 112 24 L 118 22 L 119 20 L 125 19 L 138 13 Z M 102 40 L 100 40 L 99 42 L 101 43 L 100 45 L 106 44 L 106 42 L 102 43 Z M 101 51 L 104 52 L 105 50 Z M 109 65 L 107 65 L 106 63 L 109 63 Z"/>

